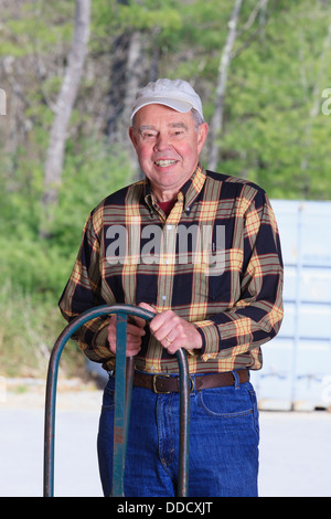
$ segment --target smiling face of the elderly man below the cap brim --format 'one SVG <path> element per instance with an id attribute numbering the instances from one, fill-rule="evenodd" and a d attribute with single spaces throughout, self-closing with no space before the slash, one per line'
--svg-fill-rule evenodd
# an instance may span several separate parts
<path id="1" fill-rule="evenodd" d="M 195 129 L 191 112 L 181 114 L 157 104 L 137 112 L 130 138 L 158 200 L 174 198 L 191 178 L 206 134 L 206 123 Z"/>

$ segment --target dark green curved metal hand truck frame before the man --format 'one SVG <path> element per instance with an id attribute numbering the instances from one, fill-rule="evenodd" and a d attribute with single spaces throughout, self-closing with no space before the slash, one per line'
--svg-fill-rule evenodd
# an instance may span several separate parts
<path id="1" fill-rule="evenodd" d="M 44 497 L 54 495 L 54 439 L 55 406 L 58 363 L 63 349 L 73 333 L 85 322 L 96 317 L 116 314 L 116 375 L 115 375 L 115 425 L 114 425 L 114 469 L 113 497 L 124 496 L 124 473 L 128 424 L 130 415 L 131 390 L 135 359 L 126 357 L 127 321 L 129 316 L 150 320 L 154 314 L 131 305 L 104 305 L 87 310 L 73 319 L 64 328 L 54 343 L 49 362 L 45 422 L 44 422 Z M 189 488 L 189 448 L 190 448 L 190 380 L 185 352 L 177 351 L 180 372 L 180 462 L 179 462 L 179 496 L 186 497 Z"/>

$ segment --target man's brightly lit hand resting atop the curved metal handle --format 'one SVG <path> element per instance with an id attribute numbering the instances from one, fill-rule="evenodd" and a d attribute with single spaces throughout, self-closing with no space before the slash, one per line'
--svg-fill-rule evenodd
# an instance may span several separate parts
<path id="1" fill-rule="evenodd" d="M 154 308 L 140 303 L 141 308 L 156 313 Z M 163 348 L 173 354 L 179 348 L 194 350 L 202 348 L 202 338 L 195 326 L 179 317 L 172 310 L 166 310 L 157 314 L 149 324 L 151 333 Z"/>

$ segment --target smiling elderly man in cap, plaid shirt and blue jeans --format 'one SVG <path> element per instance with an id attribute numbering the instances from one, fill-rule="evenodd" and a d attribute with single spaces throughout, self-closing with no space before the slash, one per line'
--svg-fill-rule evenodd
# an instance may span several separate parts
<path id="1" fill-rule="evenodd" d="M 263 189 L 205 171 L 201 99 L 189 83 L 141 88 L 129 129 L 146 178 L 92 211 L 60 301 L 66 319 L 104 304 L 156 314 L 127 329 L 135 356 L 126 496 L 177 495 L 178 348 L 191 388 L 190 497 L 257 496 L 258 412 L 249 370 L 282 319 L 277 224 Z M 109 371 L 98 433 L 105 496 L 111 494 L 114 318 L 96 318 L 77 340 Z M 154 377 L 156 375 L 156 377 Z"/>

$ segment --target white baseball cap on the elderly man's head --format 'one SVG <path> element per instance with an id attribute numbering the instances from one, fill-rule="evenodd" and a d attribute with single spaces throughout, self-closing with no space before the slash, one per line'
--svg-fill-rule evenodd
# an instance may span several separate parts
<path id="1" fill-rule="evenodd" d="M 158 80 L 140 88 L 136 95 L 131 118 L 143 106 L 166 105 L 183 114 L 195 108 L 203 119 L 202 103 L 190 83 L 183 80 Z"/>

